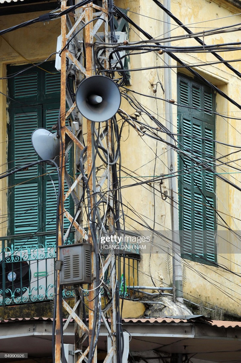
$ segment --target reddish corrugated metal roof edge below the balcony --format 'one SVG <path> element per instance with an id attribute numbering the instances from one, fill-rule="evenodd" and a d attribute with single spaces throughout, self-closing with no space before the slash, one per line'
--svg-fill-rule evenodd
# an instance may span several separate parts
<path id="1" fill-rule="evenodd" d="M 11 323 L 11 322 L 21 322 L 21 321 L 53 321 L 52 318 L 44 318 L 44 317 L 33 317 L 33 318 L 8 318 L 4 320 L 0 320 L 0 323 Z M 66 321 L 67 319 L 63 319 Z M 71 319 L 72 321 L 73 319 Z M 207 323 L 208 325 L 216 326 L 219 328 L 241 328 L 240 321 L 219 321 L 219 320 L 209 320 L 207 321 L 200 320 L 200 317 L 192 317 L 191 319 L 177 319 L 177 318 L 140 318 L 140 319 L 122 319 L 125 323 L 190 323 L 190 322 L 199 322 L 199 323 Z"/>

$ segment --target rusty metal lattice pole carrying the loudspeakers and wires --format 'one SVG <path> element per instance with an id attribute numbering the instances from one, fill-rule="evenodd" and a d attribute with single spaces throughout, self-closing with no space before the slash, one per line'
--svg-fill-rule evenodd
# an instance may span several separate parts
<path id="1" fill-rule="evenodd" d="M 64 0 L 61 2 L 61 10 L 68 9 L 67 1 Z M 71 20 L 72 19 L 72 20 Z M 73 22 L 74 19 L 74 22 Z M 93 21 L 93 19 L 95 19 Z M 98 184 L 96 185 L 96 180 L 93 180 L 92 173 L 95 169 L 95 165 L 93 164 L 93 140 L 97 135 L 96 130 L 93 132 L 93 125 L 92 122 L 87 120 L 86 122 L 86 146 L 87 146 L 87 158 L 85 159 L 85 163 L 87 163 L 86 167 L 86 175 L 88 177 L 88 188 L 90 192 L 90 209 L 91 213 L 89 216 L 88 221 L 88 234 L 85 232 L 82 226 L 83 221 L 83 210 L 82 205 L 78 204 L 77 202 L 81 198 L 82 195 L 82 186 L 83 180 L 82 176 L 79 175 L 76 179 L 71 182 L 68 179 L 67 173 L 64 173 L 64 161 L 65 161 L 65 135 L 67 134 L 75 144 L 76 148 L 76 157 L 79 157 L 80 151 L 84 149 L 83 145 L 83 125 L 82 125 L 82 117 L 79 113 L 79 110 L 76 107 L 76 103 L 71 102 L 71 97 L 69 97 L 68 91 L 66 91 L 66 57 L 72 62 L 73 67 L 76 69 L 76 82 L 75 82 L 75 89 L 78 86 L 81 78 L 83 77 L 91 77 L 95 74 L 94 69 L 94 60 L 93 60 L 93 43 L 94 38 L 98 41 L 108 42 L 109 37 L 107 33 L 107 21 L 108 21 L 108 8 L 107 8 L 107 1 L 103 0 L 102 7 L 99 7 L 94 4 L 88 4 L 84 7 L 81 7 L 79 10 L 76 9 L 75 14 L 65 15 L 62 16 L 61 20 L 61 34 L 62 34 L 62 49 L 64 51 L 61 54 L 61 107 L 60 107 L 60 126 L 61 126 L 61 148 L 60 148 L 60 170 L 61 170 L 61 180 L 62 180 L 62 203 L 60 203 L 59 207 L 59 238 L 58 238 L 58 246 L 64 243 L 63 237 L 63 216 L 65 216 L 75 228 L 75 242 L 81 243 L 83 241 L 92 244 L 92 233 L 91 233 L 91 224 L 94 223 L 93 221 L 93 205 L 95 203 L 95 196 L 94 190 L 96 190 L 96 194 L 100 191 L 101 185 L 105 183 L 105 180 L 108 180 L 107 187 L 109 188 L 109 203 L 113 206 L 113 194 L 111 193 L 112 183 L 112 172 L 111 166 L 108 166 L 104 171 L 102 177 L 99 179 Z M 74 24 L 73 24 L 74 23 Z M 85 68 L 83 62 L 83 53 L 81 53 L 81 38 L 79 29 L 85 28 Z M 100 32 L 100 28 L 102 27 L 102 32 Z M 78 34 L 77 34 L 78 32 Z M 99 33 L 98 33 L 99 32 Z M 73 38 L 73 43 L 75 45 L 75 55 L 69 52 L 68 48 L 65 46 L 67 45 L 68 41 Z M 107 65 L 107 58 L 105 56 L 105 66 Z M 69 70 L 67 70 L 69 72 Z M 66 111 L 66 101 L 68 104 L 68 111 Z M 70 131 L 65 126 L 66 119 L 72 114 L 72 119 L 79 122 L 79 135 L 76 137 L 73 134 L 73 130 Z M 111 153 L 111 131 L 110 131 L 111 123 L 110 121 L 107 122 L 107 135 L 106 135 L 106 142 L 109 152 Z M 102 138 L 105 135 L 102 134 Z M 98 142 L 101 140 L 101 136 Z M 101 141 L 100 141 L 101 142 Z M 75 164 L 77 164 L 79 160 L 76 160 Z M 95 175 L 95 174 L 94 174 Z M 64 176 L 65 180 L 67 181 L 69 190 L 66 194 L 64 194 Z M 75 216 L 71 216 L 70 213 L 64 208 L 64 202 L 72 195 L 75 204 L 78 204 L 79 210 L 76 211 Z M 109 216 L 109 231 L 114 230 L 114 220 L 113 216 Z M 81 301 L 81 291 L 76 290 L 75 296 L 75 306 L 71 308 L 68 303 L 63 300 L 63 307 L 68 312 L 69 317 L 63 327 L 63 334 L 65 329 L 67 328 L 71 319 L 75 320 L 75 363 L 81 363 L 82 361 L 88 362 L 88 358 L 92 360 L 93 363 L 97 362 L 97 349 L 93 352 L 93 358 L 88 357 L 90 351 L 90 340 L 92 335 L 96 335 L 96 329 L 94 326 L 94 310 L 96 310 L 96 305 L 98 302 L 98 296 L 95 296 L 95 289 L 96 289 L 96 256 L 94 252 L 94 248 L 92 248 L 92 284 L 89 285 L 89 321 L 88 326 L 83 322 L 82 317 L 82 301 Z M 109 308 L 110 313 L 109 316 L 111 318 L 111 329 L 109 327 L 109 323 L 106 321 L 105 315 L 101 313 L 103 324 L 106 326 L 106 329 L 109 333 L 109 351 L 107 352 L 106 359 L 104 363 L 117 362 L 117 348 L 116 348 L 116 311 L 115 311 L 115 292 L 116 292 L 116 272 L 115 272 L 115 256 L 112 252 L 103 262 L 103 266 L 100 269 L 100 281 L 102 280 L 103 276 L 107 272 L 109 268 L 110 274 L 110 299 L 112 301 L 111 306 Z M 59 277 L 57 276 L 57 291 L 56 296 L 59 297 L 60 287 L 59 287 Z M 57 310 L 56 310 L 56 344 L 55 344 L 55 362 L 61 362 L 61 326 L 62 322 L 60 321 L 60 299 L 57 298 Z M 105 311 L 106 312 L 106 311 Z M 88 339 L 88 344 L 86 344 L 86 338 Z M 85 344 L 84 344 L 85 343 Z M 86 347 L 87 345 L 87 347 Z M 83 346 L 85 346 L 83 348 Z"/>

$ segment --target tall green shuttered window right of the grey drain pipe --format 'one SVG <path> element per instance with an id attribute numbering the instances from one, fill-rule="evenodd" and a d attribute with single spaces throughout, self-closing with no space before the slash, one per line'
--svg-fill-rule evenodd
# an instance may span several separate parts
<path id="1" fill-rule="evenodd" d="M 215 95 L 194 79 L 178 75 L 179 147 L 190 155 L 178 156 L 179 229 L 182 257 L 216 262 L 216 183 L 207 170 L 215 158 Z M 193 159 L 193 160 L 191 160 Z M 206 165 L 197 165 L 206 163 Z"/>

